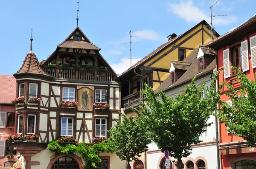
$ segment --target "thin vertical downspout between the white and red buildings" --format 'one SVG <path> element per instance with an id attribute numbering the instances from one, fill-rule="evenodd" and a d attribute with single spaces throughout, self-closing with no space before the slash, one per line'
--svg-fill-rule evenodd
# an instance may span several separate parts
<path id="1" fill-rule="evenodd" d="M 211 54 L 214 54 L 215 55 L 215 60 L 216 60 L 216 70 L 218 71 L 218 56 L 212 52 L 209 48 L 209 52 Z M 217 78 L 217 82 L 216 82 L 216 85 L 214 87 L 214 92 L 216 93 L 216 91 L 218 90 L 218 86 L 219 86 L 219 82 L 218 82 L 218 78 Z M 219 107 L 219 103 L 217 105 L 217 108 Z M 217 169 L 220 169 L 220 152 L 219 152 L 219 127 L 218 127 L 218 124 L 219 124 L 219 121 L 218 121 L 218 117 L 215 116 L 215 131 L 216 131 L 216 150 L 217 150 Z M 222 168 L 222 167 L 221 167 Z"/>

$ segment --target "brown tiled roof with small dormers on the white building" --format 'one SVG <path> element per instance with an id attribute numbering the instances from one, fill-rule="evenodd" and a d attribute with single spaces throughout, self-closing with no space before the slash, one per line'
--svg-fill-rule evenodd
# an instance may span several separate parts
<path id="1" fill-rule="evenodd" d="M 186 70 L 185 73 L 183 73 L 182 76 L 180 76 L 177 81 L 171 85 L 171 75 L 168 76 L 168 78 L 154 91 L 154 93 L 158 93 L 160 90 L 165 91 L 169 90 L 177 85 L 181 85 L 185 82 L 189 82 L 192 80 L 195 76 L 203 76 L 206 73 L 211 72 L 213 69 L 216 68 L 216 61 L 215 59 L 200 73 L 198 73 L 198 54 L 199 48 L 194 49 L 189 56 L 187 56 L 183 62 L 190 62 L 191 65 Z"/>

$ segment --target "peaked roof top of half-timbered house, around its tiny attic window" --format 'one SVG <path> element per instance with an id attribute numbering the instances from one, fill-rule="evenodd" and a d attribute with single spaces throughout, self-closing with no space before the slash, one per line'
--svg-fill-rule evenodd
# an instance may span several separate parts
<path id="1" fill-rule="evenodd" d="M 84 41 L 69 41 L 72 36 L 76 34 L 76 31 L 79 31 L 82 36 L 84 37 Z M 85 36 L 85 34 L 81 31 L 79 27 L 76 27 L 75 30 L 63 41 L 61 42 L 57 47 L 60 48 L 77 48 L 77 49 L 92 49 L 92 50 L 100 50 L 99 47 L 96 45 L 93 45 L 92 42 Z"/>

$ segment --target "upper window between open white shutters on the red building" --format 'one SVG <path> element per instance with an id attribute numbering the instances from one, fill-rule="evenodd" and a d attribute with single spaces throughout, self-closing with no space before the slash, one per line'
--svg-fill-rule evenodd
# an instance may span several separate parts
<path id="1" fill-rule="evenodd" d="M 242 71 L 242 48 L 241 45 L 238 45 L 234 48 L 232 48 L 232 65 L 238 68 Z M 236 72 L 233 71 L 233 74 L 236 74 Z"/>

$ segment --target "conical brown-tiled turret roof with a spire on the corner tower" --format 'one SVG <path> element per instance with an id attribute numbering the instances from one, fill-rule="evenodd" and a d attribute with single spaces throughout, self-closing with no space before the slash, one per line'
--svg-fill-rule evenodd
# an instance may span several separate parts
<path id="1" fill-rule="evenodd" d="M 40 67 L 40 63 L 38 62 L 37 57 L 32 52 L 29 52 L 26 55 L 20 70 L 18 70 L 16 73 L 14 73 L 14 75 L 21 74 L 21 73 L 32 73 L 32 74 L 49 76 Z"/>

